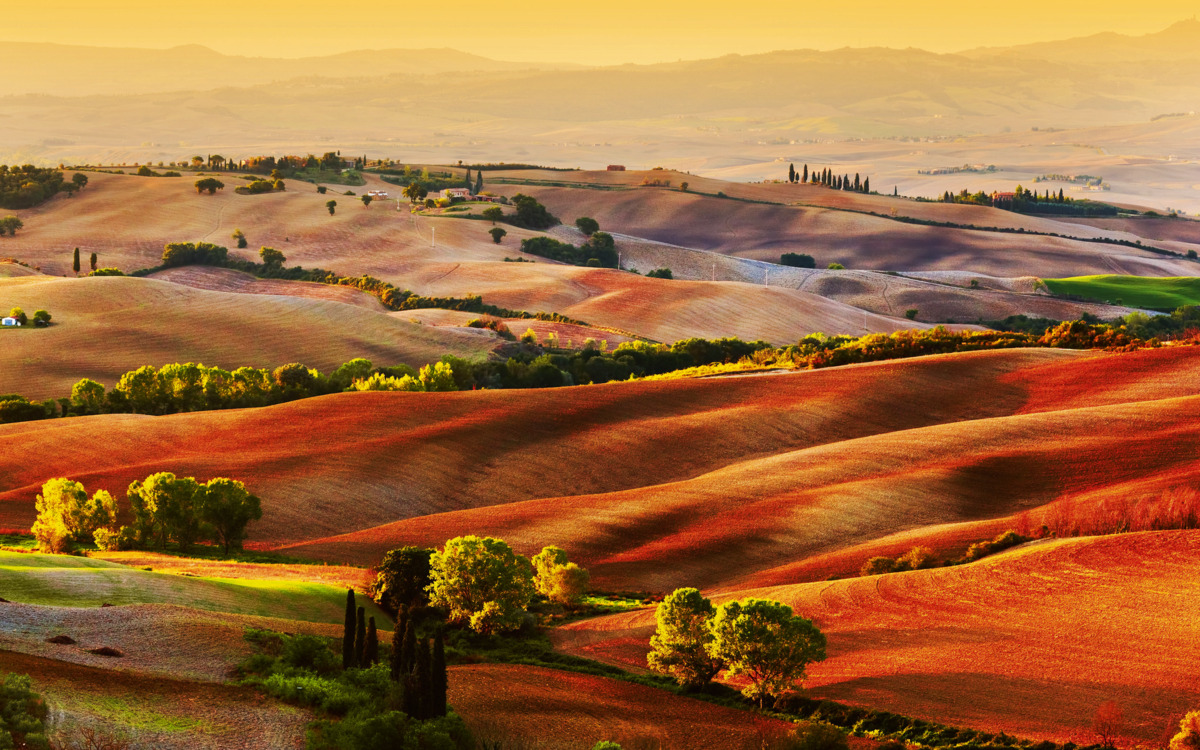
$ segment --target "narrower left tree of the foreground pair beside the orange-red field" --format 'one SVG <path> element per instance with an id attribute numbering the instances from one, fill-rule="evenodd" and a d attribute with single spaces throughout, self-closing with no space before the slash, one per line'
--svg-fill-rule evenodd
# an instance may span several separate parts
<path id="1" fill-rule="evenodd" d="M 709 653 L 713 604 L 697 589 L 672 592 L 654 612 L 658 624 L 650 636 L 646 661 L 652 670 L 670 674 L 685 688 L 700 688 L 721 671 L 721 661 Z"/>

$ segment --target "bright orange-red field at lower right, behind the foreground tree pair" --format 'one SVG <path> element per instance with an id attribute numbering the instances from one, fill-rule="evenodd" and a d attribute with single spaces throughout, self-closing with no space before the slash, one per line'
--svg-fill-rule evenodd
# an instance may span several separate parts
<path id="1" fill-rule="evenodd" d="M 829 638 L 817 697 L 949 725 L 1092 743 L 1115 700 L 1123 742 L 1195 708 L 1200 532 L 1045 540 L 966 566 L 728 592 L 779 599 Z M 566 625 L 559 644 L 644 666 L 653 610 Z"/>

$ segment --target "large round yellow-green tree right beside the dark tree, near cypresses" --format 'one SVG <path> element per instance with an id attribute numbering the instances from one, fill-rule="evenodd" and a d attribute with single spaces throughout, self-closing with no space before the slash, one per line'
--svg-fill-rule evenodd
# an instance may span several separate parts
<path id="1" fill-rule="evenodd" d="M 515 630 L 533 596 L 533 566 L 499 539 L 456 536 L 434 552 L 430 604 L 485 635 Z"/>

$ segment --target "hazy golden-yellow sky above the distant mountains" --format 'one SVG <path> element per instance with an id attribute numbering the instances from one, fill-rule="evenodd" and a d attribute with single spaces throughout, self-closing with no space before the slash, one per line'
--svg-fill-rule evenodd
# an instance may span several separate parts
<path id="1" fill-rule="evenodd" d="M 1190 18 L 1198 0 L 0 0 L 0 40 L 310 56 L 365 48 L 454 47 L 506 60 L 656 62 L 836 47 L 956 52 L 1082 36 L 1146 34 Z"/>

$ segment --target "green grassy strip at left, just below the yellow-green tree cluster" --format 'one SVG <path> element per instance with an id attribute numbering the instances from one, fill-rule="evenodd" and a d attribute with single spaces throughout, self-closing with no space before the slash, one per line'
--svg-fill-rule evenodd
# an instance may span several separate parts
<path id="1" fill-rule="evenodd" d="M 322 583 L 202 578 L 65 554 L 0 552 L 0 593 L 10 601 L 62 607 L 174 604 L 311 623 L 341 623 L 346 616 L 346 590 Z M 366 604 L 376 622 L 389 622 Z"/>

